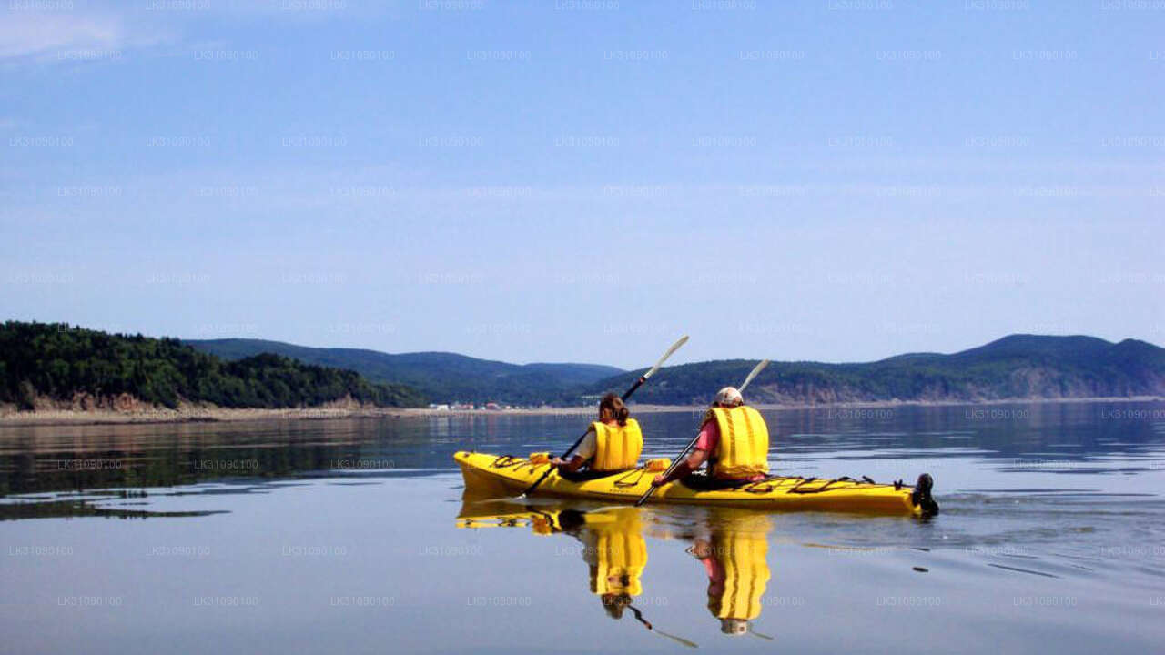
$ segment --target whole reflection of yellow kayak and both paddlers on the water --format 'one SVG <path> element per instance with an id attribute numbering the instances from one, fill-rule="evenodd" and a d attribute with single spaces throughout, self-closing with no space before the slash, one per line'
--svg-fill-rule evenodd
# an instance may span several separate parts
<path id="1" fill-rule="evenodd" d="M 771 578 L 768 563 L 771 517 L 763 513 L 732 508 L 701 508 L 692 520 L 678 524 L 657 519 L 638 507 L 580 510 L 513 502 L 466 502 L 458 527 L 530 527 L 538 535 L 565 534 L 581 543 L 580 554 L 589 572 L 589 591 L 599 596 L 607 615 L 620 619 L 626 611 L 648 629 L 661 633 L 635 606 L 643 593 L 642 576 L 648 564 L 644 531 L 659 540 L 689 542 L 686 551 L 707 576 L 707 611 L 728 635 L 753 634 L 753 622 L 763 611 L 763 597 Z M 644 524 L 647 523 L 647 524 Z M 673 571 L 686 577 L 686 571 Z"/>

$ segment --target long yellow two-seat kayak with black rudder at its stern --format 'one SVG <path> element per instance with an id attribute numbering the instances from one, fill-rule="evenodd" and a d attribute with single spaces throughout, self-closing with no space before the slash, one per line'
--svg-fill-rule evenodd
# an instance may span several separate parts
<path id="1" fill-rule="evenodd" d="M 466 495 L 517 495 L 546 472 L 550 464 L 508 455 L 460 451 L 453 459 L 461 467 Z M 658 471 L 641 466 L 585 480 L 563 478 L 558 471 L 538 486 L 536 494 L 582 498 L 603 502 L 635 502 L 651 486 Z M 938 503 L 931 498 L 932 480 L 919 476 L 916 486 L 877 484 L 868 478 L 770 477 L 730 488 L 699 488 L 685 480 L 659 487 L 652 503 L 747 507 L 763 510 L 855 512 L 867 514 L 931 515 Z"/>

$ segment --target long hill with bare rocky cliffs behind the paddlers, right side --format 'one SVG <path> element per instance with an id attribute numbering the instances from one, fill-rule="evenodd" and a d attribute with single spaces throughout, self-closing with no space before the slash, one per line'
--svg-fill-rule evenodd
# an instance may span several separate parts
<path id="1" fill-rule="evenodd" d="M 721 360 L 662 369 L 635 396 L 644 403 L 705 404 L 739 385 L 757 360 Z M 641 371 L 577 394 L 622 389 Z M 1136 339 L 1011 334 L 953 354 L 909 353 L 863 364 L 772 362 L 749 386 L 756 403 L 989 401 L 1165 396 L 1165 348 Z"/>

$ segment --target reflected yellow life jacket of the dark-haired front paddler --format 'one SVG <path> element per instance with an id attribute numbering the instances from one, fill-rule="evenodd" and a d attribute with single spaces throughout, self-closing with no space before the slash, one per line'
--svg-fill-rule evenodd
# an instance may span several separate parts
<path id="1" fill-rule="evenodd" d="M 630 508 L 628 508 L 630 509 Z M 594 536 L 592 552 L 586 554 L 591 564 L 591 591 L 596 594 L 643 593 L 640 576 L 648 564 L 648 544 L 637 512 L 619 512 L 610 522 L 587 522 Z"/>

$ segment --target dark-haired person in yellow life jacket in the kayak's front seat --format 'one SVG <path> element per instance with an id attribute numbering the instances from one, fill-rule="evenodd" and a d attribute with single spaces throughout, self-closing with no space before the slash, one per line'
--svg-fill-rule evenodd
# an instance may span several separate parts
<path id="1" fill-rule="evenodd" d="M 567 479 L 635 469 L 643 452 L 643 431 L 630 414 L 617 395 L 602 396 L 599 420 L 591 423 L 574 456 L 570 462 L 556 457 L 550 460 L 551 466 L 556 466 L 558 474 Z M 584 466 L 585 472 L 580 471 Z"/>

